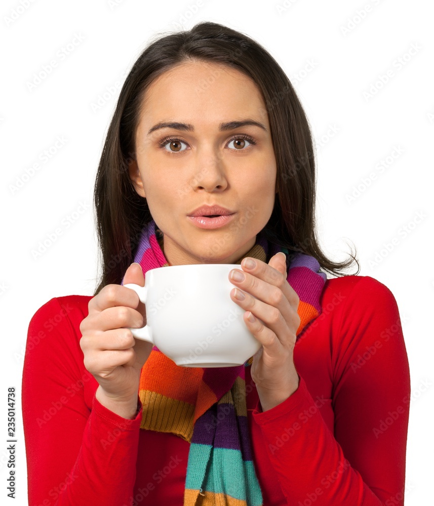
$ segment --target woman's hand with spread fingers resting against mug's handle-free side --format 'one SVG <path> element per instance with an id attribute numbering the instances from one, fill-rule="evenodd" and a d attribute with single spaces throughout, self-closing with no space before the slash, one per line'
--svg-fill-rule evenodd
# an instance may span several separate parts
<path id="1" fill-rule="evenodd" d="M 247 260 L 253 260 L 256 266 L 248 269 Z M 230 297 L 246 311 L 244 321 L 262 344 L 253 357 L 251 376 L 265 411 L 286 400 L 298 388 L 293 350 L 300 325 L 299 298 L 286 280 L 285 255 L 274 255 L 268 264 L 248 257 L 241 267 L 243 281 L 231 277 L 232 272 L 240 272 L 238 269 L 229 273 L 230 282 L 237 287 L 231 290 Z M 244 300 L 236 299 L 237 293 L 244 293 Z M 250 321 L 251 316 L 254 321 Z"/>

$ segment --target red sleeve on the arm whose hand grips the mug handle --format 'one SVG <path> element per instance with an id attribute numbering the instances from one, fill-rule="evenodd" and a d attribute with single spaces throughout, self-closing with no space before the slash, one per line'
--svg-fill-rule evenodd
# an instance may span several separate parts
<path id="1" fill-rule="evenodd" d="M 129 420 L 103 406 L 95 393 L 86 403 L 91 381 L 79 336 L 52 299 L 30 321 L 24 358 L 29 506 L 130 504 L 142 406 L 138 398 L 140 411 Z"/>

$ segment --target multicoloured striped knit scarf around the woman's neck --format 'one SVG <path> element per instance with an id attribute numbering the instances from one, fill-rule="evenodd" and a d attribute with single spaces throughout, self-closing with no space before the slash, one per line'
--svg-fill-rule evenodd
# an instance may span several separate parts
<path id="1" fill-rule="evenodd" d="M 163 234 L 151 221 L 143 228 L 134 258 L 144 275 L 170 265 L 162 246 Z M 308 255 L 295 254 L 289 265 L 288 250 L 268 243 L 262 232 L 243 258 L 268 263 L 279 251 L 287 255 L 287 280 L 300 299 L 299 336 L 321 313 L 326 274 Z M 243 258 L 234 263 L 241 264 Z M 182 367 L 154 346 L 142 368 L 141 429 L 170 432 L 190 442 L 184 506 L 262 506 L 247 425 L 245 367 L 252 361 L 238 367 Z"/>

